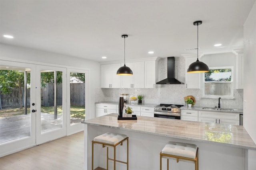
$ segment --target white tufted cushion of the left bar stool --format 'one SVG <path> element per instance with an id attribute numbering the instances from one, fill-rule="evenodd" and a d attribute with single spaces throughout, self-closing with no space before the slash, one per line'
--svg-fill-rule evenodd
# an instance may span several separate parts
<path id="1" fill-rule="evenodd" d="M 95 137 L 93 140 L 97 142 L 103 142 L 103 143 L 115 145 L 116 143 L 122 141 L 125 138 L 126 138 L 126 135 L 107 132 L 100 136 Z"/>

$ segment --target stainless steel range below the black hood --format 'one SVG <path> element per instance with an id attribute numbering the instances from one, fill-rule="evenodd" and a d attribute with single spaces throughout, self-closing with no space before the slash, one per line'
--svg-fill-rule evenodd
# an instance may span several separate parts
<path id="1" fill-rule="evenodd" d="M 160 104 L 154 107 L 154 117 L 168 119 L 180 119 L 180 107 L 178 104 Z"/>

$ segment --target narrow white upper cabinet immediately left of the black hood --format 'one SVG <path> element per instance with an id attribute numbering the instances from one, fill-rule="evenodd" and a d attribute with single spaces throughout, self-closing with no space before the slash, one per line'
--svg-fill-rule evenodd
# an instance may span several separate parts
<path id="1" fill-rule="evenodd" d="M 145 88 L 155 88 L 158 81 L 158 61 L 145 61 Z"/>

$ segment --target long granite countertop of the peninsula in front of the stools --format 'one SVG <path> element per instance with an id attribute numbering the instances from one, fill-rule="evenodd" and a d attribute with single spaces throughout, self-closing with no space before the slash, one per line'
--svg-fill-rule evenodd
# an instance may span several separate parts
<path id="1" fill-rule="evenodd" d="M 137 116 L 137 120 L 117 120 L 117 117 L 118 114 L 112 113 L 89 119 L 82 123 L 256 150 L 256 144 L 250 135 L 243 126 L 239 125 L 224 125 L 146 116 Z"/>

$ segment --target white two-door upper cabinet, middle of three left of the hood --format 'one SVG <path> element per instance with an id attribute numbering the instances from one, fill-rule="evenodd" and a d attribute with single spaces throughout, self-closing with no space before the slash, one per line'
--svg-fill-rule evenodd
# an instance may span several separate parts
<path id="1" fill-rule="evenodd" d="M 121 88 L 144 88 L 144 61 L 126 63 L 133 72 L 132 76 L 121 76 Z"/>

